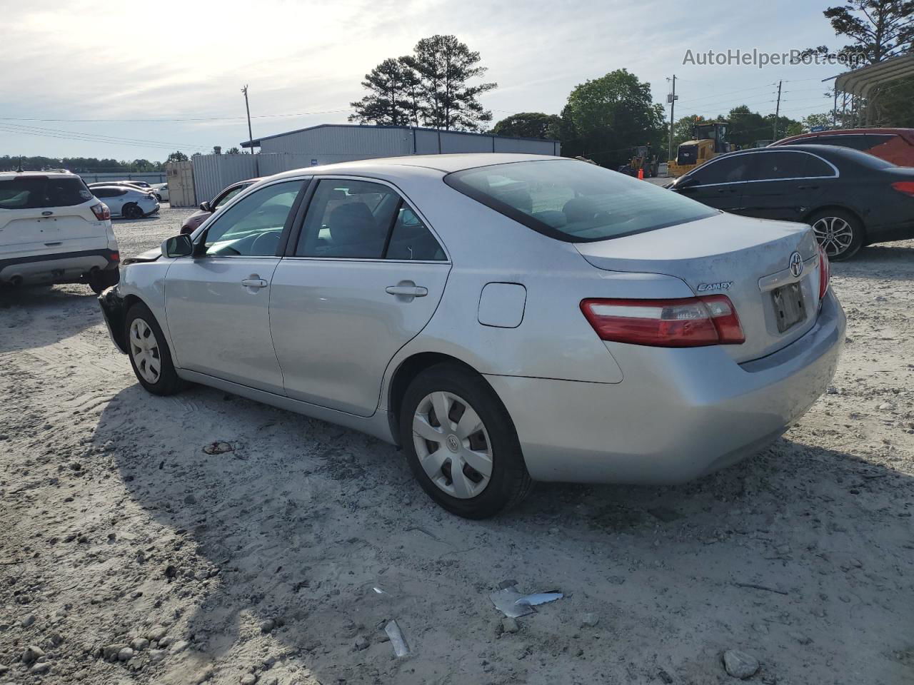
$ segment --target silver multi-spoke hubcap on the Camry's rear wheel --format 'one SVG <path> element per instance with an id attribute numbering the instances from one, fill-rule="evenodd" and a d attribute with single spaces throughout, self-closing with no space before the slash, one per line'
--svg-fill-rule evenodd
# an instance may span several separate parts
<path id="1" fill-rule="evenodd" d="M 412 439 L 422 469 L 452 497 L 469 500 L 492 478 L 492 443 L 470 404 L 439 391 L 422 398 L 412 418 Z"/>

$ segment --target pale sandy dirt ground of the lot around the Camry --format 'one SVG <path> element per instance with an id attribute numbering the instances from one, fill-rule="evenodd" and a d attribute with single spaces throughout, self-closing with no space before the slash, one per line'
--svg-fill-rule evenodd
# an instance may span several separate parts
<path id="1" fill-rule="evenodd" d="M 122 253 L 186 213 L 117 222 Z M 678 487 L 540 485 L 486 522 L 375 439 L 146 394 L 88 288 L 5 291 L 0 683 L 705 685 L 737 681 L 731 649 L 753 682 L 914 682 L 912 278 L 914 241 L 834 265 L 834 385 L 759 456 Z M 512 582 L 565 597 L 503 622 L 488 595 Z"/>

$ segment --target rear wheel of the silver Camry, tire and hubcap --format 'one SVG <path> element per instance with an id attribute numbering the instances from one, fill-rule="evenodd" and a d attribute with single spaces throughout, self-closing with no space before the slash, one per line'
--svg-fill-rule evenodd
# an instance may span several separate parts
<path id="1" fill-rule="evenodd" d="M 435 406 L 447 407 L 449 419 L 443 426 Z M 461 426 L 467 410 L 479 419 L 467 424 L 473 426 L 469 430 Z M 494 516 L 523 501 L 532 488 L 505 406 L 482 376 L 457 364 L 432 366 L 409 384 L 400 406 L 399 432 L 422 490 L 457 516 Z M 452 467 L 458 463 L 460 477 L 454 479 Z"/>

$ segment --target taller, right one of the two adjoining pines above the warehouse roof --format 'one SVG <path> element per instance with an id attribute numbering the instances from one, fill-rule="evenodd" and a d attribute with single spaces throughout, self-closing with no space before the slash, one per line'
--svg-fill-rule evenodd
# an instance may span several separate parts
<path id="1" fill-rule="evenodd" d="M 481 131 L 492 121 L 492 112 L 483 107 L 479 96 L 497 84 L 467 83 L 482 77 L 487 69 L 479 66 L 479 53 L 456 36 L 422 38 L 413 54 L 400 61 L 415 72 L 417 110 L 426 126 Z"/>

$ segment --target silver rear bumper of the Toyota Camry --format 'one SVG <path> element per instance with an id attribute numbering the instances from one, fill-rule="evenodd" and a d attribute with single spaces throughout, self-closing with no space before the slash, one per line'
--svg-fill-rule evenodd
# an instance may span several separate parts
<path id="1" fill-rule="evenodd" d="M 486 375 L 537 480 L 675 483 L 760 451 L 834 376 L 845 314 L 831 292 L 813 328 L 737 364 L 719 347 L 611 348 L 625 375 L 600 384 Z M 617 344 L 617 343 L 612 343 Z"/>

